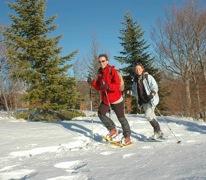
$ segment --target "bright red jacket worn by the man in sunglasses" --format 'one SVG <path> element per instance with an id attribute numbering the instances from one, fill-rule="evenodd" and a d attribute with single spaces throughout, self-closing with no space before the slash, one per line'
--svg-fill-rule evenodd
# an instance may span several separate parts
<path id="1" fill-rule="evenodd" d="M 106 83 L 108 85 L 109 88 L 106 91 L 107 93 L 100 89 L 102 83 Z M 109 64 L 104 69 L 99 69 L 97 78 L 92 81 L 91 85 L 96 90 L 100 91 L 101 100 L 106 105 L 109 105 L 109 103 L 112 104 L 113 102 L 119 100 L 122 96 L 120 91 L 120 78 L 117 70 L 114 66 L 110 66 Z"/>

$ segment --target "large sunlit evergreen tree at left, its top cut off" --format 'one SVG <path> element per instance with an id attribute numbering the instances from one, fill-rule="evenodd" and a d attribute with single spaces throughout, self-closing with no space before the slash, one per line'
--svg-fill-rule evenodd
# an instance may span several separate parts
<path id="1" fill-rule="evenodd" d="M 45 0 L 16 0 L 9 3 L 15 11 L 5 33 L 11 74 L 27 85 L 25 99 L 30 109 L 43 112 L 74 108 L 76 82 L 67 73 L 76 51 L 61 57 L 58 42 L 51 37 L 55 16 L 45 18 Z"/>

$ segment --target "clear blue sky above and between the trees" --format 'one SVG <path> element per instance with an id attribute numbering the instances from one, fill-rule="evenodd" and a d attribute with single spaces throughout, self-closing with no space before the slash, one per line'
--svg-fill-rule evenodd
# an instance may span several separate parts
<path id="1" fill-rule="evenodd" d="M 0 0 L 0 24 L 10 24 L 8 1 L 11 0 Z M 157 19 L 164 17 L 168 6 L 181 6 L 184 2 L 185 0 L 47 0 L 46 16 L 57 15 L 55 24 L 58 29 L 54 35 L 63 35 L 59 44 L 63 47 L 63 55 L 79 50 L 73 61 L 88 57 L 95 37 L 100 53 L 109 53 L 113 61 L 113 56 L 119 55 L 122 50 L 118 37 L 126 12 L 140 24 L 145 40 L 151 44 L 150 33 Z M 206 6 L 206 0 L 199 0 L 199 4 Z"/>

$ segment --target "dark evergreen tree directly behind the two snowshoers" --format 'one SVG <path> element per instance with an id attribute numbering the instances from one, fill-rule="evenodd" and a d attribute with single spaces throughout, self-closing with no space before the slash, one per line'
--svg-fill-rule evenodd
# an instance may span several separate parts
<path id="1" fill-rule="evenodd" d="M 152 65 L 153 58 L 147 52 L 148 45 L 143 38 L 143 31 L 139 24 L 134 22 L 129 14 L 124 16 L 123 28 L 120 30 L 121 46 L 123 50 L 120 52 L 121 56 L 116 56 L 115 59 L 124 67 L 121 68 L 124 74 L 125 91 L 131 90 L 132 80 L 134 77 L 134 65 L 141 63 L 145 67 L 145 71 L 156 76 L 157 69 Z M 132 100 L 132 112 L 136 112 L 136 100 Z"/>

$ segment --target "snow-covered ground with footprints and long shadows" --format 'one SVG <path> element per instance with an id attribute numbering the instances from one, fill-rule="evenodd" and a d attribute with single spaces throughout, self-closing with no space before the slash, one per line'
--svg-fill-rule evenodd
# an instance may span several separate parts
<path id="1" fill-rule="evenodd" d="M 134 143 L 117 148 L 101 141 L 107 131 L 95 116 L 46 123 L 0 113 L 0 179 L 206 179 L 205 123 L 158 117 L 166 140 L 146 142 L 152 134 L 149 122 L 142 115 L 127 115 L 127 119 Z"/>

